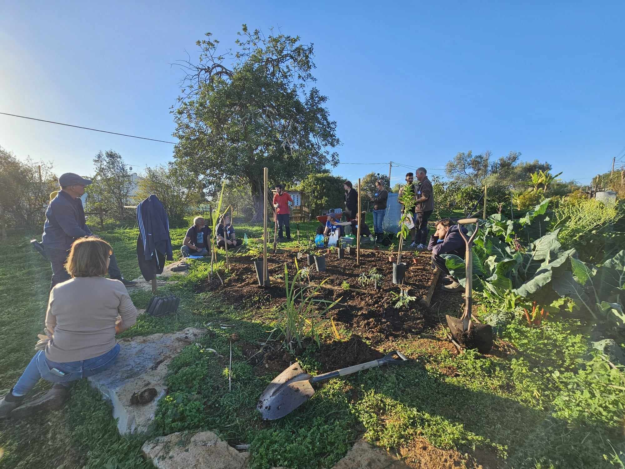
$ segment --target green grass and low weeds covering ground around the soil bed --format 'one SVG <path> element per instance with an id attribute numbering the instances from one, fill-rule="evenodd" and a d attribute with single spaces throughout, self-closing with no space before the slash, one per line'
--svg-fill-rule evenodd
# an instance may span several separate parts
<path id="1" fill-rule="evenodd" d="M 300 235 L 309 231 L 314 236 L 315 225 L 301 224 Z M 262 233 L 261 226 L 235 226 L 240 237 Z M 186 228 L 171 230 L 176 258 L 185 233 Z M 113 245 L 124 276 L 138 276 L 138 231 L 113 229 L 100 235 Z M 2 243 L 0 257 L 0 388 L 6 391 L 34 353 L 50 269 L 31 251 L 27 237 Z M 442 339 L 442 327 L 434 335 L 396 341 L 394 348 L 413 358 L 411 363 L 330 380 L 296 412 L 264 423 L 254 406 L 272 373 L 258 376 L 235 345 L 228 391 L 227 358 L 207 348 L 227 357 L 232 331 L 219 327 L 223 322 L 235 324 L 242 341 L 264 340 L 279 315 L 271 306 L 232 308 L 219 296 L 194 293 L 208 271 L 206 262 L 195 261 L 189 275 L 159 288 L 159 293 L 181 296 L 178 315 L 141 318 L 124 333 L 148 335 L 189 326 L 208 330 L 199 345 L 187 346 L 171 363 L 169 394 L 159 403 L 151 435 L 215 430 L 231 443 L 249 443 L 254 468 L 330 467 L 361 435 L 386 448 L 421 437 L 461 453 L 486 451 L 517 468 L 619 466 L 622 373 L 599 356 L 593 359 L 579 323 L 564 319 L 540 329 L 512 321 L 502 336 L 521 350 L 513 358 L 484 358 L 472 351 L 456 355 L 432 347 Z M 149 296 L 132 294 L 139 308 Z M 216 310 L 224 313 L 217 316 Z M 349 335 L 344 328 L 340 332 Z M 328 340 L 329 331 L 323 336 Z M 309 373 L 321 371 L 310 351 L 301 363 Z M 41 382 L 36 391 L 46 389 Z M 119 436 L 108 404 L 83 382 L 61 411 L 0 423 L 0 468 L 146 468 L 151 465 L 140 451 L 146 438 Z"/>

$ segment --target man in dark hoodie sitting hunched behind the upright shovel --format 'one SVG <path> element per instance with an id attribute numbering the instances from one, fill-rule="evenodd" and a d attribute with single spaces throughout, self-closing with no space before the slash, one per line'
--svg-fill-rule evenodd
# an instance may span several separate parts
<path id="1" fill-rule="evenodd" d="M 436 231 L 434 235 L 431 236 L 429 245 L 427 245 L 427 249 L 432 251 L 432 268 L 438 268 L 447 276 L 449 285 L 443 285 L 442 288 L 444 290 L 464 291 L 464 287 L 460 285 L 455 278 L 449 275 L 449 269 L 447 269 L 445 260 L 441 255 L 454 254 L 464 259 L 466 245 L 459 230 L 462 229 L 462 233 L 466 235 L 467 229 L 464 228 L 464 226 L 452 224 L 449 218 L 440 219 L 434 223 L 434 226 L 436 227 Z"/>

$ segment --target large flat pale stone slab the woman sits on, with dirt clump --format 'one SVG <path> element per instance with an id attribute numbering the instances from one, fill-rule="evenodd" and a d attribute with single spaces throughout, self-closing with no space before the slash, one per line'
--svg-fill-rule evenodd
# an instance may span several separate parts
<path id="1" fill-rule="evenodd" d="M 175 333 L 119 340 L 121 351 L 115 365 L 88 378 L 91 386 L 113 404 L 113 418 L 119 418 L 119 433 L 148 430 L 154 421 L 156 403 L 167 390 L 165 376 L 169 362 L 204 333 L 205 329 L 186 328 Z"/>

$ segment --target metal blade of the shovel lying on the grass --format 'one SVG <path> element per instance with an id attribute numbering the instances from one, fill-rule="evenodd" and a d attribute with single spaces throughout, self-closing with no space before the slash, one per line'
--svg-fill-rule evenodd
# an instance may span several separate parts
<path id="1" fill-rule="evenodd" d="M 274 378 L 262 391 L 256 408 L 263 420 L 276 420 L 294 411 L 314 394 L 309 379 L 299 363 L 294 363 Z"/>

